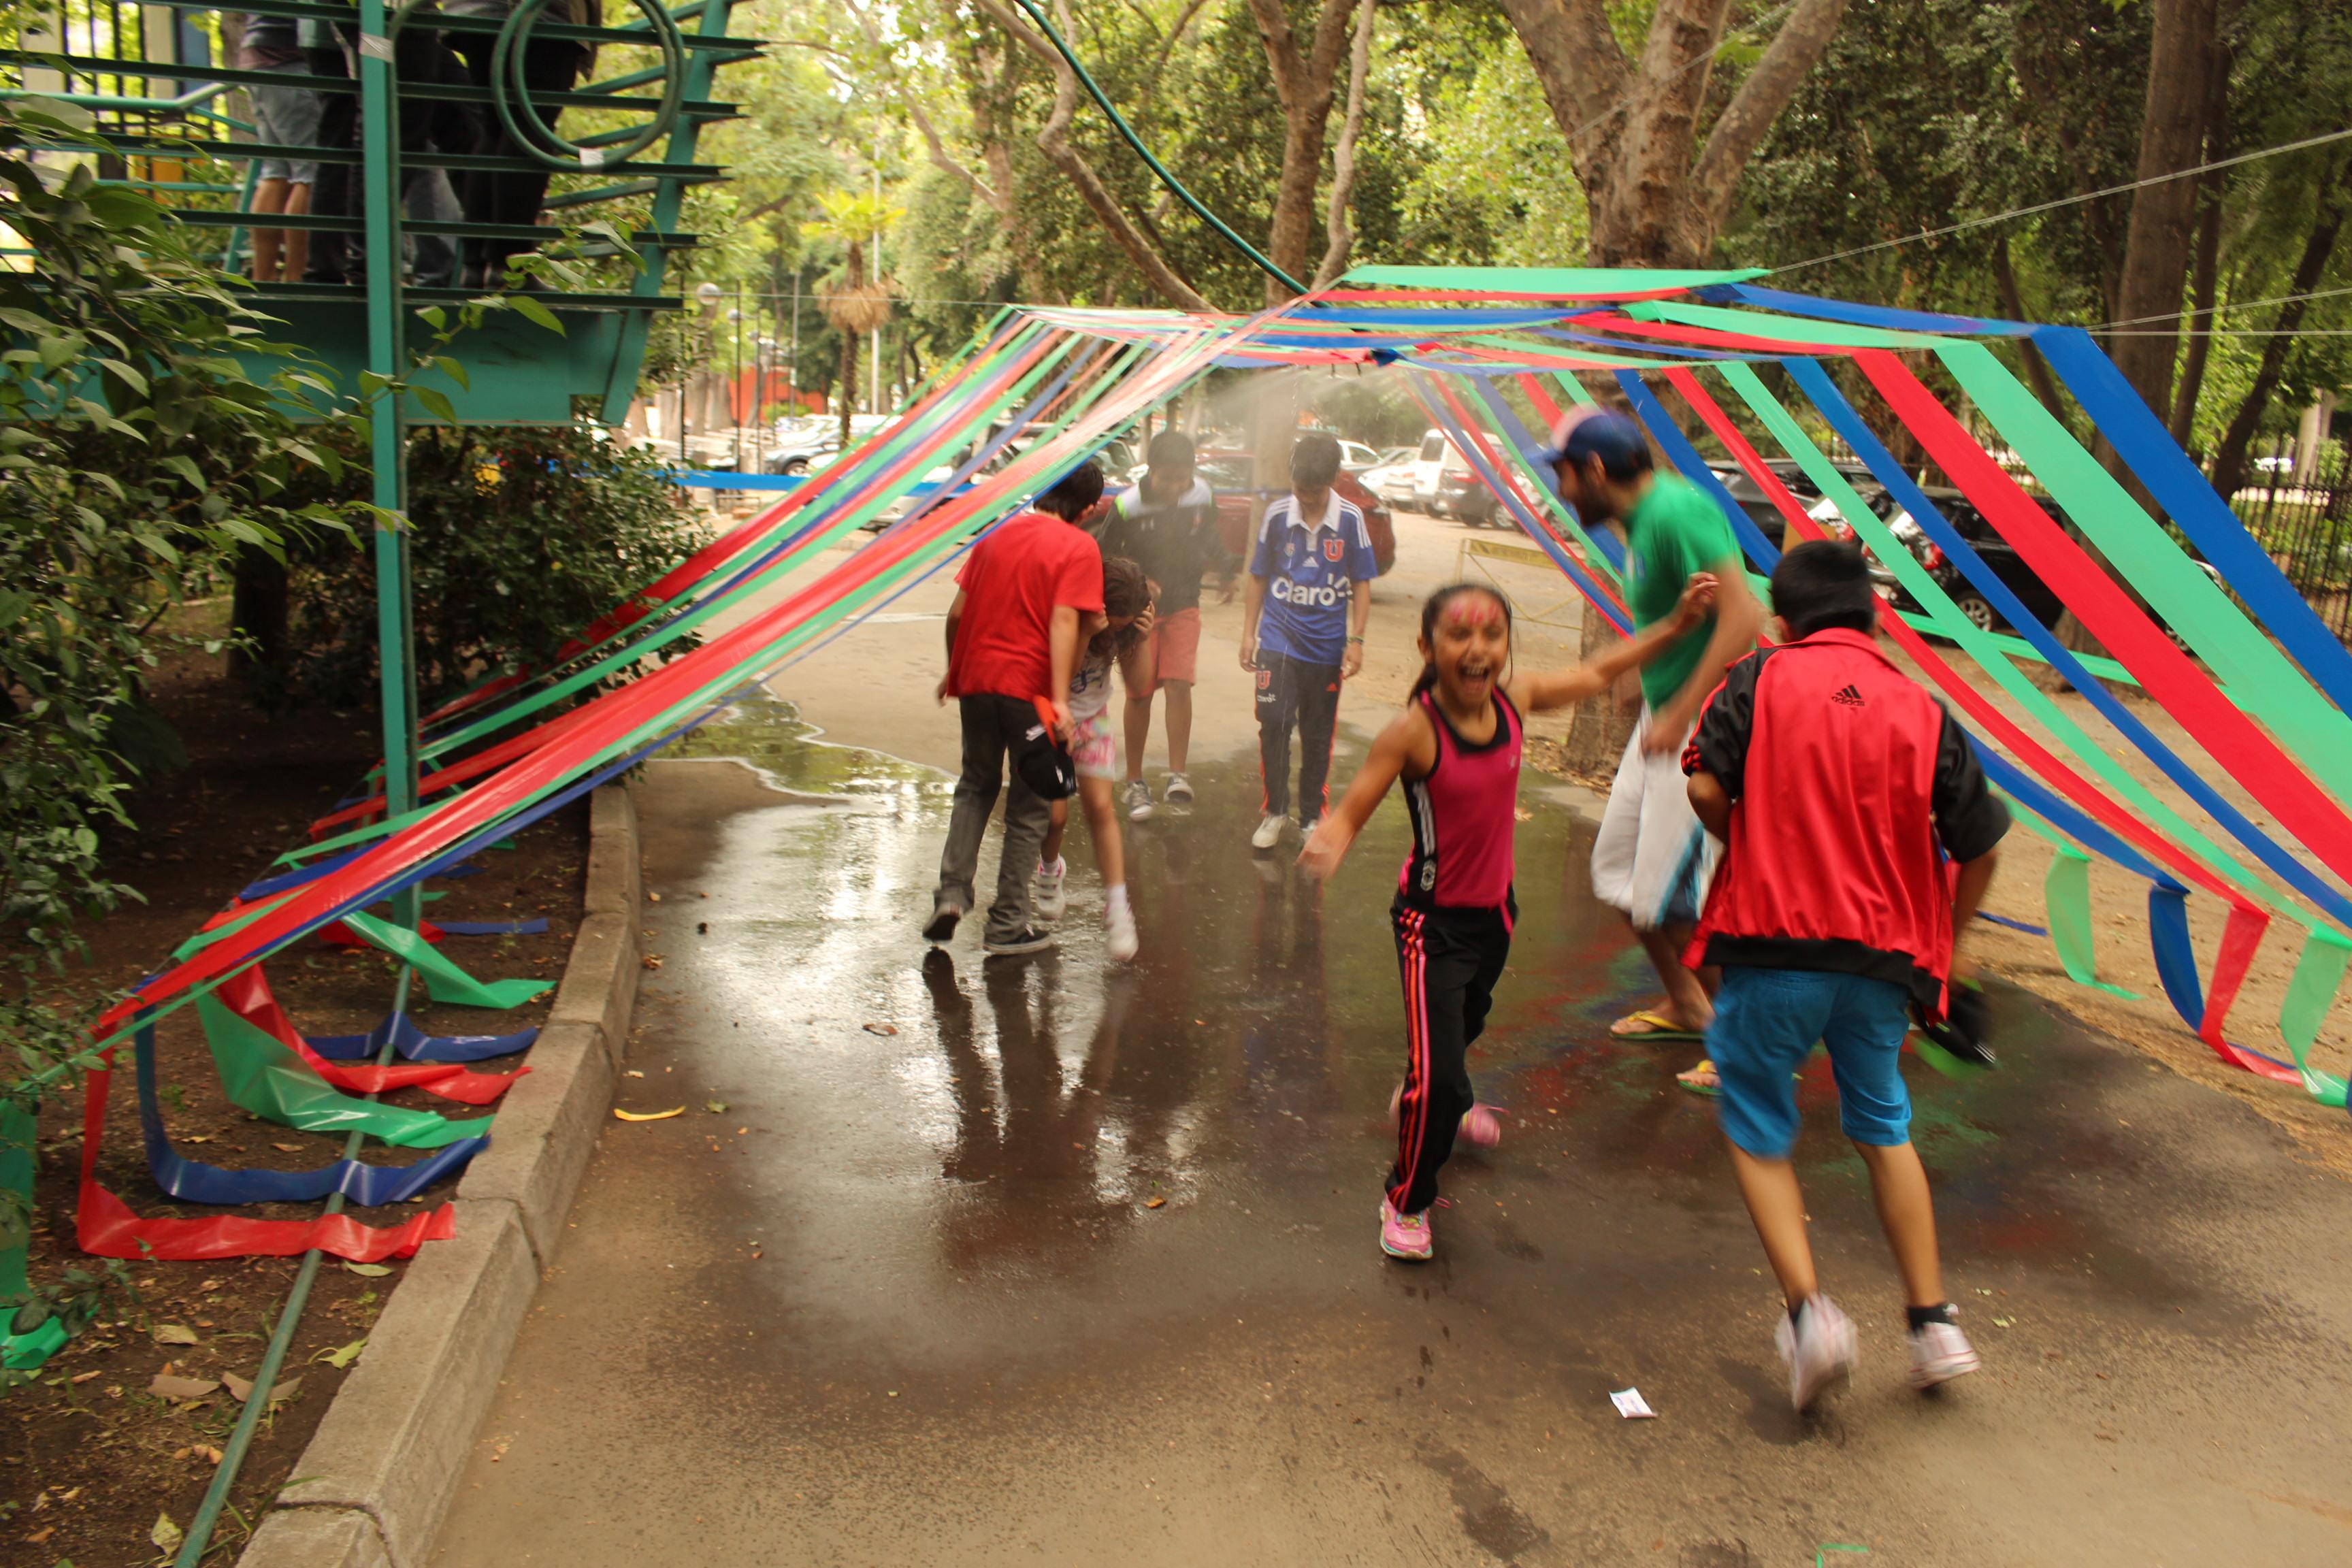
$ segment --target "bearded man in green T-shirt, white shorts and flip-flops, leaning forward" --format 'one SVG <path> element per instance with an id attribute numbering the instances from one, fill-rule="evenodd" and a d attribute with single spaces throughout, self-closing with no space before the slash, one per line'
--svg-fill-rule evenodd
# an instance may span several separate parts
<path id="1" fill-rule="evenodd" d="M 1642 717 L 1635 722 L 1609 809 L 1592 839 L 1592 891 L 1621 910 L 1665 985 L 1665 1004 L 1609 1025 L 1618 1039 L 1698 1039 L 1715 1020 L 1710 985 L 1682 961 L 1715 872 L 1715 839 L 1691 811 L 1682 748 L 1698 708 L 1724 679 L 1724 665 L 1755 646 L 1764 611 L 1748 588 L 1740 548 L 1722 508 L 1675 475 L 1658 475 L 1649 440 L 1625 414 L 1573 409 L 1545 451 L 1559 498 L 1583 524 L 1625 527 L 1625 609 L 1639 632 L 1675 614 L 1693 571 L 1712 571 L 1715 614 L 1684 632 L 1642 670 Z M 1700 1060 L 1682 1084 L 1715 1091 L 1715 1065 Z"/>

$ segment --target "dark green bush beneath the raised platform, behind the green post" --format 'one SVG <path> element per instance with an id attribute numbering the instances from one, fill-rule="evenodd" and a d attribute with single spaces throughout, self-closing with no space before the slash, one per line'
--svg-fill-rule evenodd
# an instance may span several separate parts
<path id="1" fill-rule="evenodd" d="M 590 621 L 696 545 L 661 458 L 590 423 L 416 430 L 409 529 L 416 684 L 426 705 L 482 670 L 553 663 Z M 329 703 L 376 686 L 376 574 L 343 548 L 294 574 L 296 679 Z M 691 637 L 668 654 L 694 646 Z"/>

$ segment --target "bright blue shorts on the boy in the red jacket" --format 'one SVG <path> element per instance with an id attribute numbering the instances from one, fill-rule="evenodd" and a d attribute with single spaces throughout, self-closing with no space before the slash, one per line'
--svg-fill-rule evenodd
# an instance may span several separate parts
<path id="1" fill-rule="evenodd" d="M 1797 1147 L 1797 1084 L 1818 1039 L 1837 1077 L 1837 1121 L 1853 1143 L 1891 1150 L 1910 1143 L 1910 1088 L 1903 1086 L 1907 992 L 1893 980 L 1825 969 L 1724 969 L 1715 994 L 1708 1056 L 1724 1086 L 1724 1135 L 1757 1159 Z"/>

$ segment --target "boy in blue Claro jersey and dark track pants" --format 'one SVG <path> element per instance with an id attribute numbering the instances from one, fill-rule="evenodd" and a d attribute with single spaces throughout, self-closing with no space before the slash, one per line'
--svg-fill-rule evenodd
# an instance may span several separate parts
<path id="1" fill-rule="evenodd" d="M 1282 842 L 1291 811 L 1291 726 L 1298 729 L 1298 818 L 1322 820 L 1338 726 L 1338 684 L 1364 668 L 1371 618 L 1371 555 L 1364 512 L 1343 501 L 1338 440 L 1312 433 L 1291 447 L 1291 494 L 1268 503 L 1249 555 L 1242 602 L 1242 668 L 1258 679 L 1258 773 L 1263 820 L 1254 849 Z"/>

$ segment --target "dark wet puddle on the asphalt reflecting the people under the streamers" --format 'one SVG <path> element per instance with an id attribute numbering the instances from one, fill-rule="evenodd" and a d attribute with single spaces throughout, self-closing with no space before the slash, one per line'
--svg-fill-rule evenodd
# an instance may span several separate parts
<path id="1" fill-rule="evenodd" d="M 706 1020 L 696 1032 L 717 1046 L 708 1063 L 717 1081 L 793 1100 L 793 1119 L 821 1138 L 809 1147 L 837 1166 L 818 1180 L 844 1201 L 840 1222 L 854 1237 L 844 1246 L 896 1246 L 953 1272 L 1070 1269 L 1096 1255 L 1096 1241 L 1148 1222 L 1152 1201 L 1244 1204 L 1249 1192 L 1275 1199 L 1268 1187 L 1308 1180 L 1376 1192 L 1402 1056 L 1388 900 L 1409 835 L 1395 802 L 1341 875 L 1317 886 L 1291 870 L 1296 839 L 1270 856 L 1249 851 L 1254 764 L 1202 766 L 1190 811 L 1162 806 L 1127 830 L 1143 929 L 1136 964 L 1103 957 L 1082 823 L 1065 849 L 1061 950 L 983 964 L 978 919 L 943 952 L 917 933 L 948 776 L 830 745 L 767 696 L 673 755 L 741 757 L 774 785 L 830 802 L 750 811 L 722 827 L 699 879 L 717 940 L 673 940 L 687 961 L 666 987 L 675 980 Z M 1357 757 L 1359 745 L 1343 743 L 1334 790 Z M 1479 1093 L 1522 1135 L 1543 1124 L 1566 1133 L 1534 1143 L 1583 1180 L 1637 1180 L 1670 1201 L 1719 1208 L 1729 1178 L 1712 1105 L 1672 1084 L 1698 1046 L 1609 1039 L 1609 1020 L 1653 994 L 1646 961 L 1588 891 L 1592 827 L 1534 792 L 1529 806 L 1512 964 L 1472 1051 Z M 995 839 L 981 853 L 983 898 L 993 872 Z M 2096 1095 L 2084 1063 L 2117 1053 L 2070 1048 L 2072 1077 L 2056 1084 L 2060 1067 L 2037 1048 L 2060 1034 L 2056 1020 L 2018 992 L 1999 1006 L 2011 1030 L 2002 1072 L 1955 1081 L 1905 1058 L 1917 1143 L 1955 1248 L 1997 1234 L 2011 1251 L 2070 1253 L 2084 1239 L 2058 1204 L 2020 1201 L 2016 1150 L 2002 1157 L 1999 1140 L 2058 1088 Z M 2098 1060 L 2091 1067 L 2096 1079 Z M 1839 1201 L 1835 1190 L 1844 1211 L 1858 1211 L 1867 1187 L 1837 1133 L 1820 1056 L 1799 1105 L 1799 1166 L 1823 1201 Z M 2105 1164 L 2100 1154 L 2096 1143 L 2067 1150 L 2084 1166 Z M 1475 1159 L 1463 1175 L 1477 1178 Z M 804 1192 L 811 1178 L 793 1180 Z M 908 1185 L 927 1197 L 908 1204 Z"/>

